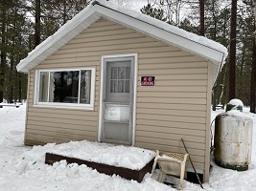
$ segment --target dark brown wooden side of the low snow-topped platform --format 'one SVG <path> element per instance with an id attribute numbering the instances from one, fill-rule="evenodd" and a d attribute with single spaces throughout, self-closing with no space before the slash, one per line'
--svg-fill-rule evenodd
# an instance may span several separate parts
<path id="1" fill-rule="evenodd" d="M 45 163 L 53 165 L 55 162 L 65 159 L 67 163 L 78 163 L 79 165 L 85 164 L 87 167 L 96 169 L 99 173 L 104 173 L 105 175 L 119 175 L 120 177 L 127 180 L 137 180 L 141 182 L 146 173 L 151 173 L 151 168 L 153 164 L 153 159 L 146 164 L 141 170 L 131 170 L 124 167 L 117 167 L 108 164 L 102 164 L 94 161 L 87 161 L 83 159 L 69 158 L 57 154 L 46 153 Z"/>

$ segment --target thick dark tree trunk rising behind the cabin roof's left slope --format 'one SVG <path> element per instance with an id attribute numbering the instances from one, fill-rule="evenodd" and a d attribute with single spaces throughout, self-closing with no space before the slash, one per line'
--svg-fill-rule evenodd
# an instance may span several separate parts
<path id="1" fill-rule="evenodd" d="M 40 44 L 40 0 L 35 0 L 35 47 Z"/>

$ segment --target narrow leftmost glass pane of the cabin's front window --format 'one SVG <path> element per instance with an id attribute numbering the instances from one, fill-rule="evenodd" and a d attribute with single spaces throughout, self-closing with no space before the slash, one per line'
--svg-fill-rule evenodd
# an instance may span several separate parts
<path id="1" fill-rule="evenodd" d="M 47 102 L 48 99 L 49 72 L 40 72 L 39 82 L 39 102 Z"/>

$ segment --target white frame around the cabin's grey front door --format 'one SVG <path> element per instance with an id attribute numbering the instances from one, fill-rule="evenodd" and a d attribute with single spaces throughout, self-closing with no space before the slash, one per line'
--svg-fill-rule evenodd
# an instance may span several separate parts
<path id="1" fill-rule="evenodd" d="M 131 136 L 131 145 L 135 144 L 135 124 L 136 124 L 136 97 L 137 97 L 137 74 L 138 74 L 138 54 L 137 53 L 129 53 L 129 54 L 115 54 L 115 55 L 103 55 L 101 61 L 101 85 L 100 85 L 100 105 L 99 105 L 99 124 L 98 124 L 98 141 L 101 142 L 104 138 L 102 138 L 103 131 L 103 104 L 104 104 L 104 82 L 105 82 L 105 59 L 124 59 L 128 57 L 133 57 L 134 63 L 134 76 L 133 76 L 133 111 L 132 111 L 132 136 Z"/>

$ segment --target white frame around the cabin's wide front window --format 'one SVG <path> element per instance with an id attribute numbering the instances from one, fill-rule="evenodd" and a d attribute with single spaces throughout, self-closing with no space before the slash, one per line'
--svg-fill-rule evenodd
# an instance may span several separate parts
<path id="1" fill-rule="evenodd" d="M 60 102 L 39 102 L 39 82 L 41 72 L 65 72 L 65 71 L 91 71 L 91 90 L 90 90 L 90 103 L 60 103 Z M 66 109 L 84 109 L 93 110 L 94 109 L 94 95 L 95 95 L 95 67 L 84 67 L 84 68 L 68 68 L 68 69 L 43 69 L 35 70 L 35 95 L 34 95 L 34 106 L 35 107 L 53 107 L 53 108 L 66 108 Z M 80 90 L 81 90 L 81 77 L 79 79 L 79 95 L 80 100 Z M 49 87 L 48 87 L 49 91 Z M 48 93 L 49 95 L 49 93 Z"/>

